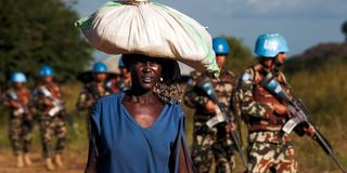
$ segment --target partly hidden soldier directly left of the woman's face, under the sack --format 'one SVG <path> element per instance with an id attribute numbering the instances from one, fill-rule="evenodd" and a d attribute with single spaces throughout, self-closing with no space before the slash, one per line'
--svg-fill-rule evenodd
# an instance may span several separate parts
<path id="1" fill-rule="evenodd" d="M 107 85 L 112 93 L 118 93 L 120 91 L 127 91 L 131 86 L 131 75 L 129 68 L 127 68 L 121 57 L 118 61 L 119 76 L 107 82 Z"/>

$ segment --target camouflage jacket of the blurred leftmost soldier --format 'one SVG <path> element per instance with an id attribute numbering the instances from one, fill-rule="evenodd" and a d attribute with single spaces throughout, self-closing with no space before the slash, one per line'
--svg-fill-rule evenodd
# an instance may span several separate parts
<path id="1" fill-rule="evenodd" d="M 3 101 L 11 108 L 11 115 L 14 117 L 31 116 L 31 96 L 27 88 L 18 91 L 15 89 L 8 90 L 3 95 Z M 20 107 L 14 107 L 11 102 L 15 102 Z"/>

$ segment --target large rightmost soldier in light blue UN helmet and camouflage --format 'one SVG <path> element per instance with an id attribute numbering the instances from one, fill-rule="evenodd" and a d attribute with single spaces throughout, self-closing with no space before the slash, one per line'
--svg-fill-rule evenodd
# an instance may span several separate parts
<path id="1" fill-rule="evenodd" d="M 279 34 L 260 35 L 255 53 L 259 63 L 247 68 L 240 81 L 242 115 L 248 128 L 249 172 L 297 172 L 290 136 L 281 131 L 290 118 L 287 105 L 261 86 L 267 74 L 275 74 L 281 86 L 291 94 L 290 86 L 278 67 L 284 64 L 287 43 Z"/>

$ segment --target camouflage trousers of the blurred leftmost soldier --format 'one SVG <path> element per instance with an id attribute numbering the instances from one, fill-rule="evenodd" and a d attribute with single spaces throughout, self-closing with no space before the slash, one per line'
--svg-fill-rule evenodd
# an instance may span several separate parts
<path id="1" fill-rule="evenodd" d="M 29 151 L 34 121 L 10 117 L 9 138 L 15 156 Z"/>

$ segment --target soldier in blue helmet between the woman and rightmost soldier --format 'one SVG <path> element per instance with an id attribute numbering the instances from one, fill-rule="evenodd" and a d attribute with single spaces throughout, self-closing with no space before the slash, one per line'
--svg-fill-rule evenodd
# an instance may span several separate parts
<path id="1" fill-rule="evenodd" d="M 209 129 L 206 122 L 216 116 L 217 105 L 196 84 L 204 78 L 211 78 L 211 83 L 216 89 L 219 102 L 230 112 L 230 102 L 236 77 L 233 72 L 223 67 L 226 58 L 229 54 L 229 44 L 223 38 L 215 38 L 213 48 L 216 52 L 216 61 L 221 69 L 218 79 L 210 77 L 208 74 L 200 71 L 192 72 L 192 80 L 189 89 L 184 94 L 184 103 L 195 108 L 194 115 L 194 132 L 193 132 L 193 149 L 192 158 L 198 172 L 209 172 L 213 158 L 216 160 L 216 172 L 232 172 L 234 168 L 233 161 L 233 143 L 228 136 L 227 123 L 222 122 Z"/>

